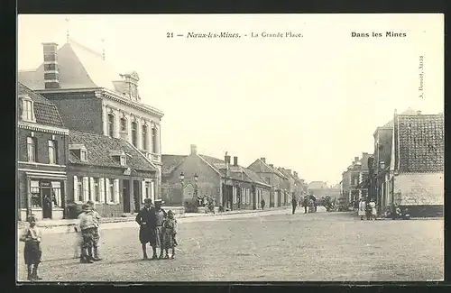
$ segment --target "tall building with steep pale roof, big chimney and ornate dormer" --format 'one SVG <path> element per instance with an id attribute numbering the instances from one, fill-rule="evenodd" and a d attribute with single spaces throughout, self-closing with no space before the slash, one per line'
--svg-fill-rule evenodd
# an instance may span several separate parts
<path id="1" fill-rule="evenodd" d="M 160 193 L 163 113 L 143 103 L 136 72 L 119 74 L 104 55 L 69 40 L 59 50 L 44 43 L 41 66 L 19 71 L 18 78 L 57 105 L 70 130 L 131 142 L 158 169 L 154 188 Z"/>

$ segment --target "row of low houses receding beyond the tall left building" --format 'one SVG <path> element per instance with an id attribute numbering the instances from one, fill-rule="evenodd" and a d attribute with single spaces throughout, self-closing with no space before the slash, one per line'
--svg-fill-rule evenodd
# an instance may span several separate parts
<path id="1" fill-rule="evenodd" d="M 188 206 L 198 196 L 212 197 L 229 210 L 262 208 L 262 199 L 269 207 L 289 206 L 306 190 L 296 171 L 275 168 L 265 158 L 246 168 L 237 156 L 217 159 L 199 154 L 193 144 L 188 155 L 163 154 L 161 161 L 161 197 L 170 206 Z"/>

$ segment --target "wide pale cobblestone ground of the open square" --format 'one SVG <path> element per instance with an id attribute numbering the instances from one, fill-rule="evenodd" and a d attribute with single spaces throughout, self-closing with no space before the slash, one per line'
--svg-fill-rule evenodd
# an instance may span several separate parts
<path id="1" fill-rule="evenodd" d="M 138 227 L 130 224 L 102 231 L 104 260 L 93 264 L 73 258 L 75 233 L 44 233 L 40 274 L 43 281 L 443 279 L 443 219 L 367 222 L 288 210 L 213 218 L 179 224 L 175 260 L 141 260 Z M 19 251 L 23 280 L 23 243 Z"/>

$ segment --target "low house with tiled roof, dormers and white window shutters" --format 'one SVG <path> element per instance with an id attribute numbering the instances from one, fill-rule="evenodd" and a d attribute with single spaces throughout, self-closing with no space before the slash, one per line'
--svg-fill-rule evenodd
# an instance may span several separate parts
<path id="1" fill-rule="evenodd" d="M 157 169 L 132 143 L 95 133 L 69 133 L 68 203 L 97 203 L 102 216 L 138 211 L 155 199 Z"/>

